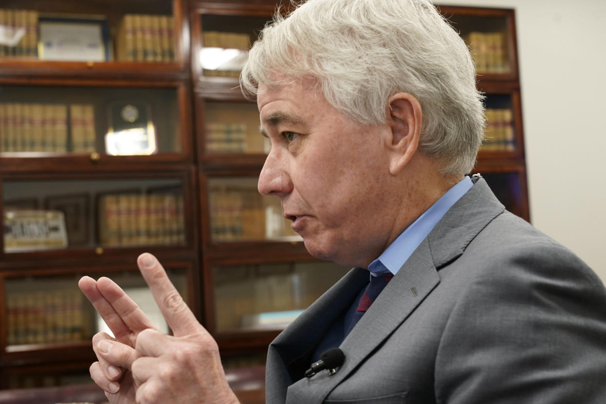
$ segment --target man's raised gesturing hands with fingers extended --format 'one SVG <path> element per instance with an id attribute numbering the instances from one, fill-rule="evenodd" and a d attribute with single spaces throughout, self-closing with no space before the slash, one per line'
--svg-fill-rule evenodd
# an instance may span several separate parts
<path id="1" fill-rule="evenodd" d="M 119 377 L 110 377 L 110 366 L 122 368 L 118 392 L 106 393 L 112 403 L 237 403 L 225 379 L 215 340 L 198 323 L 164 268 L 147 253 L 141 254 L 137 263 L 174 336 L 151 326 L 115 283 L 110 285 L 104 278 L 96 283 L 103 302 L 91 293 L 90 280 L 83 278 L 82 290 L 116 336 L 112 340 L 98 334 L 93 339 L 99 358 L 98 365 L 91 366 L 93 380 L 107 392 Z M 112 345 L 109 351 L 103 349 L 107 343 Z"/>

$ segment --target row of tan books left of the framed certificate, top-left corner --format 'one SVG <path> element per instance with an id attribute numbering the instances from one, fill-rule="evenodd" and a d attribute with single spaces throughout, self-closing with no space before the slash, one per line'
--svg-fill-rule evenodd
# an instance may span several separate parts
<path id="1" fill-rule="evenodd" d="M 0 45 L 0 58 L 38 58 L 38 12 L 0 8 L 0 26 L 9 42 L 14 39 Z"/>

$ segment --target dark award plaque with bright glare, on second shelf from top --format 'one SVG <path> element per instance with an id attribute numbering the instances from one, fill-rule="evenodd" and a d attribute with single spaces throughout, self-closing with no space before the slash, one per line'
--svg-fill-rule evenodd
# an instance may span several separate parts
<path id="1" fill-rule="evenodd" d="M 143 101 L 114 102 L 108 108 L 109 127 L 105 152 L 113 156 L 156 153 L 151 108 Z"/>

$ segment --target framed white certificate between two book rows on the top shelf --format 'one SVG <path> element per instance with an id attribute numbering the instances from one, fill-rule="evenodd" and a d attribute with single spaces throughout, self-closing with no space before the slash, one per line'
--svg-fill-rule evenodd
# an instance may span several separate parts
<path id="1" fill-rule="evenodd" d="M 112 58 L 109 29 L 104 18 L 41 16 L 38 29 L 40 59 L 105 62 Z"/>

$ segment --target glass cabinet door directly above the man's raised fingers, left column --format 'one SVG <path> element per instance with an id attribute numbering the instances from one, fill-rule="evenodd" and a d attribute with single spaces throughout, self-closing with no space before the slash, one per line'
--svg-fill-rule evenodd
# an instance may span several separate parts
<path id="1" fill-rule="evenodd" d="M 180 178 L 5 181 L 2 207 L 4 253 L 187 241 Z"/>

